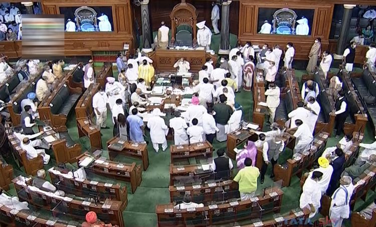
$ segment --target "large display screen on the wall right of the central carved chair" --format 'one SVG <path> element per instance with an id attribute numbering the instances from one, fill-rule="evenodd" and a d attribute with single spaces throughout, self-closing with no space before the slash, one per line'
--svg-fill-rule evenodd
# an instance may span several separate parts
<path id="1" fill-rule="evenodd" d="M 258 33 L 310 35 L 314 9 L 259 8 Z"/>

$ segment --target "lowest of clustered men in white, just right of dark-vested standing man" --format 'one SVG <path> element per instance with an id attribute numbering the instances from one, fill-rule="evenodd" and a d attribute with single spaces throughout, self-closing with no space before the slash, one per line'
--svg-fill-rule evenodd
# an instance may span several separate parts
<path id="1" fill-rule="evenodd" d="M 294 147 L 294 154 L 295 153 L 302 153 L 303 151 L 307 150 L 308 144 L 311 143 L 313 136 L 310 133 L 307 133 L 309 130 L 309 126 L 307 123 L 304 123 L 301 119 L 295 120 L 296 129 L 295 133 L 292 135 L 295 137 L 295 147 Z"/>

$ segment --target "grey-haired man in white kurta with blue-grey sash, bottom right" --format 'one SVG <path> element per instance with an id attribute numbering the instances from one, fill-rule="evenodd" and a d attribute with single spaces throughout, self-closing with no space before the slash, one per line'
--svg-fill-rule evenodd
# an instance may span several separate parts
<path id="1" fill-rule="evenodd" d="M 333 227 L 342 226 L 343 219 L 350 215 L 350 199 L 354 191 L 354 185 L 350 176 L 342 176 L 340 186 L 331 196 L 329 217 Z"/>

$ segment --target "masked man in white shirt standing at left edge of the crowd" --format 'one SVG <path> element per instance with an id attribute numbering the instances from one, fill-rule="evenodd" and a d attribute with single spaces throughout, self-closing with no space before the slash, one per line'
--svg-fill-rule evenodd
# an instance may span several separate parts
<path id="1" fill-rule="evenodd" d="M 107 103 L 108 97 L 107 94 L 104 92 L 103 88 L 100 87 L 99 91 L 94 94 L 93 96 L 93 108 L 94 113 L 96 116 L 96 126 L 98 129 L 100 128 L 108 128 L 106 126 L 106 119 L 107 119 Z"/>

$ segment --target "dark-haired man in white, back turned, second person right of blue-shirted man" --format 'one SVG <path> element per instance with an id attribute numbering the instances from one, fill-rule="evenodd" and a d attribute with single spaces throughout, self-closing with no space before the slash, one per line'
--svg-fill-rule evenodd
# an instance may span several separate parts
<path id="1" fill-rule="evenodd" d="M 188 135 L 186 134 L 186 124 L 179 111 L 173 113 L 175 117 L 170 119 L 169 126 L 173 129 L 173 140 L 175 145 L 188 144 Z"/>

